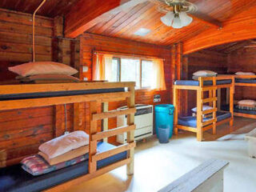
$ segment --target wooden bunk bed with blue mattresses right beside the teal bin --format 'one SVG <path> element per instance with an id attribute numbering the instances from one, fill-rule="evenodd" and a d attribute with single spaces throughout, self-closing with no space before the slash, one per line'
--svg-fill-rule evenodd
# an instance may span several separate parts
<path id="1" fill-rule="evenodd" d="M 226 88 L 230 90 L 230 110 L 229 112 L 217 111 L 218 97 L 217 90 Z M 178 117 L 178 90 L 195 90 L 197 91 L 197 117 Z M 208 98 L 204 98 L 205 92 Z M 220 102 L 220 101 L 218 101 Z M 202 110 L 202 106 L 209 103 L 213 109 Z M 216 134 L 216 126 L 225 122 L 230 122 L 230 127 L 234 122 L 234 76 L 219 75 L 218 77 L 200 77 L 198 81 L 178 80 L 174 83 L 174 133 L 178 130 L 187 130 L 197 134 L 197 140 L 202 141 L 202 133 L 206 130 L 213 130 Z M 203 118 L 203 115 L 210 114 L 210 118 Z"/>

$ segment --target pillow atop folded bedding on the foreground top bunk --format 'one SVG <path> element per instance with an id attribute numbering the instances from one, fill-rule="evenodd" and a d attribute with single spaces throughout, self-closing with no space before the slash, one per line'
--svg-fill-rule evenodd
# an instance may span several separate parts
<path id="1" fill-rule="evenodd" d="M 8 70 L 19 75 L 16 77 L 19 82 L 79 82 L 78 78 L 72 76 L 77 74 L 78 70 L 58 62 L 28 62 L 22 65 L 9 67 Z"/>

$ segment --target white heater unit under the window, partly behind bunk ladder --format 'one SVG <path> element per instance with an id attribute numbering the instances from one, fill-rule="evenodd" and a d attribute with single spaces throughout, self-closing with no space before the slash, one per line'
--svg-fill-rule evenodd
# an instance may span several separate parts
<path id="1" fill-rule="evenodd" d="M 134 139 L 138 141 L 142 138 L 147 138 L 153 135 L 153 106 L 151 105 L 135 105 L 136 114 L 134 117 L 134 123 L 136 125 L 136 130 L 134 131 Z M 126 106 L 118 108 L 118 110 L 126 109 Z M 118 116 L 118 127 L 127 126 L 126 115 Z M 126 133 L 118 135 L 118 142 L 126 142 Z"/>

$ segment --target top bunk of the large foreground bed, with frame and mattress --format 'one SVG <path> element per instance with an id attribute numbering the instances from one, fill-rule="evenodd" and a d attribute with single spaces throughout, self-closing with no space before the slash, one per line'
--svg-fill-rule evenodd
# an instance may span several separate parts
<path id="1" fill-rule="evenodd" d="M 130 97 L 134 82 L 72 82 L 0 85 L 0 110 Z"/>

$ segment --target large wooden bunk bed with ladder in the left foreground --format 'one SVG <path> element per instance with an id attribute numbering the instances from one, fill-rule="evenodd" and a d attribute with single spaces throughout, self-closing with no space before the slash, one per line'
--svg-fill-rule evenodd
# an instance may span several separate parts
<path id="1" fill-rule="evenodd" d="M 81 82 L 0 86 L 0 110 L 54 106 L 90 102 L 89 159 L 32 176 L 21 165 L 0 169 L 0 191 L 63 191 L 73 185 L 127 165 L 127 174 L 134 173 L 134 82 Z M 98 112 L 98 103 L 126 100 L 128 109 Z M 79 113 L 79 111 L 77 111 Z M 97 122 L 118 115 L 127 115 L 128 126 L 98 132 Z M 104 138 L 127 133 L 127 143 L 113 146 Z"/>

